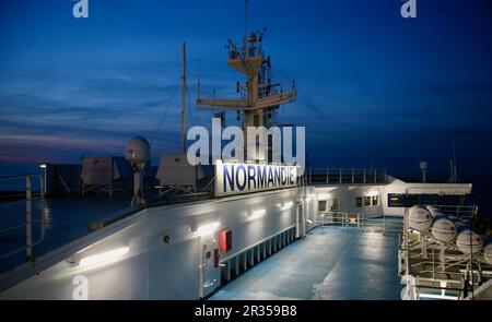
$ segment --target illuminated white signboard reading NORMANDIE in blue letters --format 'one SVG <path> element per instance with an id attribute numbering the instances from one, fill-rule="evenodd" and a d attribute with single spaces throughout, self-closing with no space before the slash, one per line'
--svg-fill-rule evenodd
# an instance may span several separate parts
<path id="1" fill-rule="evenodd" d="M 224 196 L 295 187 L 296 166 L 223 163 L 215 164 L 215 195 Z"/>

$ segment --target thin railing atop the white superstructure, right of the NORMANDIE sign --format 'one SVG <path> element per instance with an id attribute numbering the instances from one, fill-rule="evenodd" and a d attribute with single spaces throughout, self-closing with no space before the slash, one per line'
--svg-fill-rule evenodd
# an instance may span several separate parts
<path id="1" fill-rule="evenodd" d="M 387 183 L 385 169 L 327 169 L 313 168 L 306 170 L 311 184 L 336 183 Z"/>

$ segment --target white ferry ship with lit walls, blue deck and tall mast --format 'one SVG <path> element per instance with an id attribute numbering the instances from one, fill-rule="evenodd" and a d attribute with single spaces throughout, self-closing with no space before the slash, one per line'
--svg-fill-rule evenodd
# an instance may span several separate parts
<path id="1" fill-rule="evenodd" d="M 274 124 L 274 114 L 297 93 L 271 81 L 262 41 L 263 32 L 242 46 L 229 40 L 227 65 L 246 82 L 236 84 L 236 98 L 199 97 L 197 108 L 233 110 L 243 131 Z M 213 174 L 191 165 L 185 46 L 183 58 L 183 152 L 163 155 L 155 178 L 147 175 L 150 147 L 142 138 L 128 142 L 127 160 L 85 157 L 20 176 L 26 196 L 16 211 L 25 204 L 25 222 L 0 232 L 0 299 L 491 298 L 491 243 L 478 206 L 466 201 L 471 183 L 401 180 L 375 168 L 307 168 L 294 176 L 298 165 L 266 155 L 218 160 Z M 425 175 L 425 163 L 421 169 Z M 94 217 L 83 211 L 90 196 L 49 198 L 57 190 L 113 195 L 125 186 L 118 179 L 131 176 L 131 206 L 118 212 L 102 205 L 104 215 Z M 19 178 L 2 178 L 12 179 Z M 124 202 L 109 201 L 116 208 Z M 78 223 L 50 228 L 67 213 Z"/>

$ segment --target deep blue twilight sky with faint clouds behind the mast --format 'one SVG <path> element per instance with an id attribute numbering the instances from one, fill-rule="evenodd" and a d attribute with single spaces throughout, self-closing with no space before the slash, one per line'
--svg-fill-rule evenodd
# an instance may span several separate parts
<path id="1" fill-rule="evenodd" d="M 89 19 L 73 3 L 0 1 L 1 176 L 122 155 L 134 134 L 152 141 L 154 163 L 178 152 L 181 41 L 190 99 L 198 76 L 203 95 L 242 80 L 224 49 L 244 33 L 242 0 L 89 0 Z M 401 3 L 250 0 L 273 76 L 297 85 L 279 120 L 306 127 L 312 165 L 367 167 L 373 151 L 377 167 L 413 177 L 422 159 L 431 177 L 448 174 L 455 131 L 461 179 L 492 180 L 490 1 L 418 0 L 409 20 Z M 192 106 L 189 124 L 210 124 Z"/>

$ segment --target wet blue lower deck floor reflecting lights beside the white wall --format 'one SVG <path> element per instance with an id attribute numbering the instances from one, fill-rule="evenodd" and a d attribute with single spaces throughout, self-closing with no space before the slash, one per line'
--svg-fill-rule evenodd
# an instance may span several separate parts
<path id="1" fill-rule="evenodd" d="M 223 286 L 212 300 L 398 300 L 398 238 L 318 227 Z"/>

